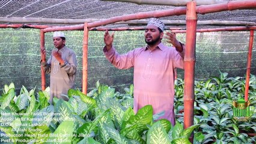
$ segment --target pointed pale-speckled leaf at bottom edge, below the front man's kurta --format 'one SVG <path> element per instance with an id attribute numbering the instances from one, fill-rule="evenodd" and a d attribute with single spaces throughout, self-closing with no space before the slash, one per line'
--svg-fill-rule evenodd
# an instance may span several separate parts
<path id="1" fill-rule="evenodd" d="M 160 121 L 157 121 L 152 125 L 147 134 L 147 144 L 161 143 L 169 144 L 171 141 L 166 133 L 166 130 L 163 128 Z"/>

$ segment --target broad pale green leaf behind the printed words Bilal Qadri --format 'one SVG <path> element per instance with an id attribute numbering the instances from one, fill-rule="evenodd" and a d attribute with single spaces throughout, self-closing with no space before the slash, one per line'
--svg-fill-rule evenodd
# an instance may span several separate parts
<path id="1" fill-rule="evenodd" d="M 63 121 L 48 140 L 50 142 L 72 143 L 73 124 L 73 121 Z"/>

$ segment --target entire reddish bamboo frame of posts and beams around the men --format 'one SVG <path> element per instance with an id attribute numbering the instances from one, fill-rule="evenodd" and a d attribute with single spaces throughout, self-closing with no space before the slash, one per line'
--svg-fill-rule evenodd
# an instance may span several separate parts
<path id="1" fill-rule="evenodd" d="M 246 89 L 245 100 L 248 100 L 249 89 L 249 74 L 251 69 L 252 45 L 254 40 L 254 31 L 256 26 L 237 26 L 232 28 L 215 28 L 215 29 L 197 29 L 197 14 L 215 13 L 228 10 L 242 10 L 256 8 L 256 1 L 230 1 L 214 5 L 196 6 L 195 1 L 187 3 L 186 8 L 174 8 L 171 10 L 150 11 L 136 14 L 126 14 L 124 16 L 111 17 L 109 19 L 98 20 L 95 22 L 85 22 L 83 25 L 72 26 L 38 26 L 24 25 L 29 28 L 40 29 L 40 47 L 44 47 L 44 33 L 53 31 L 73 31 L 84 30 L 83 40 L 83 60 L 82 60 L 82 92 L 87 93 L 87 77 L 88 77 L 88 32 L 89 31 L 126 31 L 126 30 L 141 30 L 143 28 L 97 28 L 98 26 L 108 25 L 117 22 L 125 22 L 127 20 L 146 19 L 150 17 L 166 17 L 179 16 L 186 14 L 186 30 L 180 28 L 174 29 L 175 33 L 186 32 L 186 52 L 184 57 L 184 128 L 190 127 L 194 122 L 194 79 L 195 79 L 195 43 L 197 32 L 213 32 L 213 31 L 250 31 L 249 49 L 248 49 L 248 64 L 246 70 Z M 23 25 L 0 25 L 0 28 L 20 28 Z M 41 53 L 43 55 L 43 53 Z M 43 69 L 41 68 L 41 89 L 46 88 L 46 80 Z"/>

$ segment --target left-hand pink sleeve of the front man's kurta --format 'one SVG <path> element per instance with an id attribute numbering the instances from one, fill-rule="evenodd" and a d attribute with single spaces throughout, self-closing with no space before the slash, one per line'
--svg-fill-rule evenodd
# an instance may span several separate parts
<path id="1" fill-rule="evenodd" d="M 108 61 L 119 69 L 128 69 L 134 66 L 135 50 L 131 50 L 124 55 L 120 55 L 115 51 L 114 47 L 107 51 L 105 46 L 103 48 L 103 52 Z"/>

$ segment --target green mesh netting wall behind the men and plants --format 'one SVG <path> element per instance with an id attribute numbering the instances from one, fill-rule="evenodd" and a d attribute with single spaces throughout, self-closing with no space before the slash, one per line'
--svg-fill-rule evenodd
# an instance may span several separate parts
<path id="1" fill-rule="evenodd" d="M 32 89 L 41 87 L 40 37 L 38 29 L 1 29 L 0 30 L 0 88 L 14 82 L 16 86 Z M 82 86 L 82 39 L 83 31 L 66 31 L 66 45 L 73 49 L 78 59 L 76 87 Z M 97 80 L 122 91 L 133 83 L 133 69 L 118 70 L 103 55 L 104 32 L 90 31 L 88 41 L 88 91 L 93 89 Z M 185 34 L 177 34 L 184 43 Z M 45 38 L 47 58 L 53 49 L 52 32 Z M 165 43 L 165 40 L 163 40 Z M 206 32 L 197 34 L 197 62 L 195 78 L 205 80 L 218 76 L 219 70 L 229 76 L 245 76 L 248 53 L 249 32 Z M 255 40 L 254 40 L 255 43 Z M 145 46 L 143 31 L 115 32 L 114 46 L 119 53 L 126 53 L 136 47 Z M 256 74 L 256 49 L 252 50 L 251 73 Z M 183 70 L 178 70 L 183 77 Z M 49 86 L 49 76 L 46 79 Z M 16 88 L 19 90 L 20 88 Z M 1 90 L 1 89 L 0 89 Z"/>

